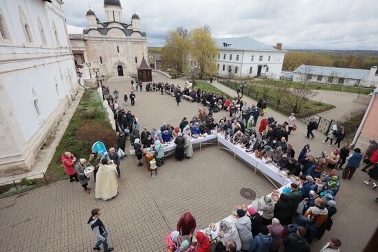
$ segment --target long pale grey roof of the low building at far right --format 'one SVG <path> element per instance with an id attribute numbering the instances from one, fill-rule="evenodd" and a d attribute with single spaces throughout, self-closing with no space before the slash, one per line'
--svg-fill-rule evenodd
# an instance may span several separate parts
<path id="1" fill-rule="evenodd" d="M 342 68 L 342 67 L 320 67 L 310 65 L 300 65 L 294 73 L 306 73 L 318 76 L 332 76 L 337 78 L 348 78 L 361 80 L 368 75 L 370 70 L 366 69 L 354 69 L 354 68 Z"/>

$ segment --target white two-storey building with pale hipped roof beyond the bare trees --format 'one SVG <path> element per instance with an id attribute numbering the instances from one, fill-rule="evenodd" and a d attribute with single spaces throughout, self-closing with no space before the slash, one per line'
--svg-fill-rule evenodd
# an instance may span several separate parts
<path id="1" fill-rule="evenodd" d="M 249 37 L 215 38 L 219 47 L 216 58 L 218 76 L 243 76 L 278 79 L 286 51 L 282 44 L 266 45 Z"/>

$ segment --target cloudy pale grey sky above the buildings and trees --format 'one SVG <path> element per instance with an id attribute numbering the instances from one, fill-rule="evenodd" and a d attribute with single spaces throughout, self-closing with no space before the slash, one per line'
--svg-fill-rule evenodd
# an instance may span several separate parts
<path id="1" fill-rule="evenodd" d="M 89 9 L 104 20 L 103 0 L 64 0 L 69 33 L 87 27 Z M 210 26 L 214 38 L 249 36 L 284 49 L 378 49 L 377 0 L 121 0 L 124 23 L 140 16 L 148 46 L 169 30 Z"/>

